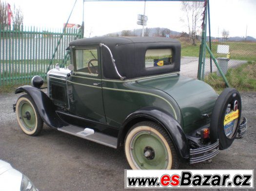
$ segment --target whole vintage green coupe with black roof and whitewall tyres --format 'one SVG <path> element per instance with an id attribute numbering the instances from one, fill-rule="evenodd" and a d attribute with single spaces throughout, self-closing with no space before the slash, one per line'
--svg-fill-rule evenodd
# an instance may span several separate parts
<path id="1" fill-rule="evenodd" d="M 228 148 L 246 131 L 234 88 L 220 95 L 179 75 L 180 42 L 163 37 L 95 37 L 70 42 L 71 65 L 39 76 L 14 104 L 25 134 L 43 122 L 113 148 L 124 145 L 132 169 L 176 169 Z"/>

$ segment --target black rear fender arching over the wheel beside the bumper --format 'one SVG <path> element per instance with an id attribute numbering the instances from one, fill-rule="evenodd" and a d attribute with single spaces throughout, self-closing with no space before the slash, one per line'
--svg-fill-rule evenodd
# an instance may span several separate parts
<path id="1" fill-rule="evenodd" d="M 148 119 L 160 123 L 171 137 L 178 154 L 183 158 L 189 158 L 188 140 L 180 124 L 175 119 L 173 119 L 171 115 L 161 111 L 159 108 L 141 108 L 130 114 L 125 119 L 119 131 L 118 144 L 123 141 L 126 132 L 131 127 L 131 124 L 134 124 L 133 121 L 139 122 L 136 119 Z"/>

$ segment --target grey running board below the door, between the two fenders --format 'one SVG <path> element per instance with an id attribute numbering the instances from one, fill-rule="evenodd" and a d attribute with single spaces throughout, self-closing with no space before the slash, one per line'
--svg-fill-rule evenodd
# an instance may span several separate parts
<path id="1" fill-rule="evenodd" d="M 64 133 L 68 133 L 70 135 L 74 135 L 83 139 L 91 140 L 94 142 L 98 142 L 99 144 L 103 144 L 112 148 L 117 148 L 118 139 L 109 135 L 105 135 L 102 133 L 94 132 L 93 129 L 89 128 L 81 128 L 74 125 L 68 125 L 65 127 L 58 128 L 59 131 Z"/>

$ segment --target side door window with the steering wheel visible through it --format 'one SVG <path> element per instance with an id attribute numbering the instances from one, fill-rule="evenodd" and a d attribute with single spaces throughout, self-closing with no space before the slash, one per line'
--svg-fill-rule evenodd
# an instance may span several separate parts
<path id="1" fill-rule="evenodd" d="M 96 48 L 75 50 L 76 71 L 98 74 L 98 52 Z"/>

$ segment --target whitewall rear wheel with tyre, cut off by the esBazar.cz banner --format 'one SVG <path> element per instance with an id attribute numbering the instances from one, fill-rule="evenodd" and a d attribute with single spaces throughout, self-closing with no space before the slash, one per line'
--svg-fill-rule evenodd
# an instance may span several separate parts
<path id="1" fill-rule="evenodd" d="M 124 151 L 132 169 L 177 169 L 176 149 L 161 125 L 139 122 L 126 135 Z"/>

